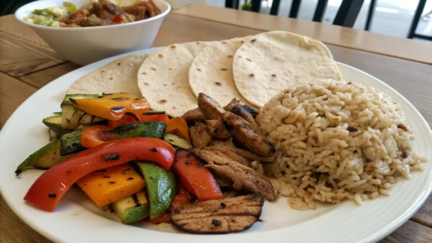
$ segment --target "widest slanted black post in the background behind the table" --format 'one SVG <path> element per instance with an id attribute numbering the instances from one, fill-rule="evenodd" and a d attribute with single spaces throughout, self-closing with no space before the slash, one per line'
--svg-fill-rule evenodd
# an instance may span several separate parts
<path id="1" fill-rule="evenodd" d="M 333 24 L 353 28 L 365 0 L 343 0 Z"/>

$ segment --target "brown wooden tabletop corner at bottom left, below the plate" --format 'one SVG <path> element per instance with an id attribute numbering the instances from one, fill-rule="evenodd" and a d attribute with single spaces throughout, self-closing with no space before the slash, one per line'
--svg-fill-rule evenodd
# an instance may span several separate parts
<path id="1" fill-rule="evenodd" d="M 0 196 L 0 242 L 53 243 L 25 224 Z"/>

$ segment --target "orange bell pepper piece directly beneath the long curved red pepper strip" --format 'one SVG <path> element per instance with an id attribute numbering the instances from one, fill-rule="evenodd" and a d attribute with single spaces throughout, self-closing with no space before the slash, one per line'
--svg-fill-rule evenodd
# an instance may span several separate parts
<path id="1" fill-rule="evenodd" d="M 119 164 L 96 170 L 76 181 L 76 184 L 98 207 L 118 201 L 146 186 L 146 181 L 130 164 Z"/>

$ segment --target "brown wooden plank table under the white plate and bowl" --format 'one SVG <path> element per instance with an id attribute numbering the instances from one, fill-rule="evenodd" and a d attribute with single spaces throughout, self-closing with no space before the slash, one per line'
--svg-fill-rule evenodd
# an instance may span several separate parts
<path id="1" fill-rule="evenodd" d="M 153 46 L 223 40 L 269 30 L 291 31 L 323 41 L 335 60 L 364 70 L 388 83 L 406 97 L 432 126 L 432 43 L 191 4 L 165 18 Z M 20 24 L 12 15 L 1 17 L 0 128 L 30 95 L 78 67 L 59 57 L 30 28 Z M 51 241 L 24 224 L 0 198 L 0 242 Z M 381 240 L 381 243 L 405 242 L 432 242 L 432 197 L 410 221 Z"/>

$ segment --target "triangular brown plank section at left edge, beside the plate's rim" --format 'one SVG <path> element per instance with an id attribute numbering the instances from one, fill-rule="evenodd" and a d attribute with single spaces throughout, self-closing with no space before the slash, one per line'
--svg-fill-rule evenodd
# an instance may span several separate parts
<path id="1" fill-rule="evenodd" d="M 13 111 L 38 89 L 0 73 L 0 129 Z"/>

